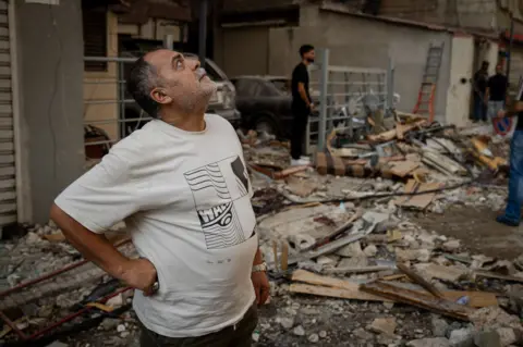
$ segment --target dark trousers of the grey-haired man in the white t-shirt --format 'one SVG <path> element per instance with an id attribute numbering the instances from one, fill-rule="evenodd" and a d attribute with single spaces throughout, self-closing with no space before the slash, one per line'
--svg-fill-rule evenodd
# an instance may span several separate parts
<path id="1" fill-rule="evenodd" d="M 167 337 L 142 325 L 141 347 L 250 347 L 258 324 L 258 312 L 253 305 L 243 319 L 233 326 L 198 337 Z"/>

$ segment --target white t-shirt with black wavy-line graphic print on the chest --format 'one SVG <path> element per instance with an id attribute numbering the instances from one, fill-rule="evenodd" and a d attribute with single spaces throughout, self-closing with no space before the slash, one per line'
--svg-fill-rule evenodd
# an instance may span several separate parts
<path id="1" fill-rule="evenodd" d="M 163 336 L 219 331 L 255 300 L 258 237 L 242 147 L 228 121 L 215 114 L 205 121 L 200 133 L 149 122 L 54 201 L 94 233 L 125 219 L 160 284 L 151 297 L 136 290 L 133 306 Z"/>

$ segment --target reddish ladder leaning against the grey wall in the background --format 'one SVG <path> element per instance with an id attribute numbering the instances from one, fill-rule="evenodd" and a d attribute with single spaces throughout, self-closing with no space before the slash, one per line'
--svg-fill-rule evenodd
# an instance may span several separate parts
<path id="1" fill-rule="evenodd" d="M 434 98 L 436 95 L 436 83 L 438 82 L 439 67 L 443 55 L 443 46 L 441 42 L 435 45 L 430 42 L 428 47 L 427 62 L 423 74 L 422 86 L 417 95 L 417 102 L 412 111 L 415 114 L 428 115 L 428 121 L 434 122 Z"/>

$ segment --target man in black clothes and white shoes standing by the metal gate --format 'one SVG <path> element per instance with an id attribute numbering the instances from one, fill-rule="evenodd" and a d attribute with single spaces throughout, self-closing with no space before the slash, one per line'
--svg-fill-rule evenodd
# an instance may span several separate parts
<path id="1" fill-rule="evenodd" d="M 304 45 L 300 48 L 302 61 L 292 72 L 292 115 L 293 128 L 291 137 L 291 165 L 307 165 L 309 160 L 303 157 L 302 146 L 307 128 L 308 115 L 314 104 L 308 94 L 308 71 L 307 66 L 314 62 L 314 47 Z"/>

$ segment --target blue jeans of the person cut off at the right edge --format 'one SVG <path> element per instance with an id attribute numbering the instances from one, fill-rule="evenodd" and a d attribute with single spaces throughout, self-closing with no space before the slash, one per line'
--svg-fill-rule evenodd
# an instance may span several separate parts
<path id="1" fill-rule="evenodd" d="M 509 199 L 504 216 L 520 222 L 523 201 L 523 131 L 515 129 L 510 142 Z"/>

